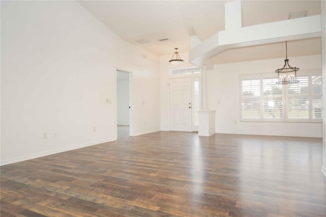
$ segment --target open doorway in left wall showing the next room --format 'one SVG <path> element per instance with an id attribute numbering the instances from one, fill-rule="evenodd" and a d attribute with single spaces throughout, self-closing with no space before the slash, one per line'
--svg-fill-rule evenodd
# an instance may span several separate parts
<path id="1" fill-rule="evenodd" d="M 117 139 L 130 137 L 130 73 L 117 70 Z"/>

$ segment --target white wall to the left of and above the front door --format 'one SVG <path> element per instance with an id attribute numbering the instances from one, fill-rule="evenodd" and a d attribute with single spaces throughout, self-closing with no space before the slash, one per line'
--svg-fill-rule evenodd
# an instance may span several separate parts
<path id="1" fill-rule="evenodd" d="M 160 130 L 169 131 L 169 69 L 175 68 L 187 68 L 187 67 L 196 67 L 194 64 L 189 63 L 189 54 L 188 52 L 179 53 L 183 63 L 179 66 L 175 66 L 169 63 L 171 57 L 173 55 L 173 51 L 171 51 L 171 55 L 164 55 L 159 57 L 159 73 L 160 73 Z M 181 75 L 184 76 L 191 76 Z M 180 77 L 180 76 L 173 76 Z"/>

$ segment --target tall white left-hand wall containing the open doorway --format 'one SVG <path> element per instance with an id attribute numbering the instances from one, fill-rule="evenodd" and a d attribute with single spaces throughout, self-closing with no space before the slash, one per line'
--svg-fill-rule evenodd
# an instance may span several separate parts
<path id="1" fill-rule="evenodd" d="M 2 165 L 115 140 L 116 68 L 132 71 L 133 135 L 159 130 L 158 57 L 79 3 L 1 1 L 1 45 Z"/>

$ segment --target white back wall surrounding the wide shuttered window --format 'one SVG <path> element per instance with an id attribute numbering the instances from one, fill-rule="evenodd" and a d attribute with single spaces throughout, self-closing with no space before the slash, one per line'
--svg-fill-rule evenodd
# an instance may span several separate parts
<path id="1" fill-rule="evenodd" d="M 321 68 L 320 55 L 289 60 L 301 71 Z M 216 111 L 216 133 L 322 137 L 321 123 L 240 122 L 240 75 L 274 72 L 283 64 L 284 58 L 230 63 L 207 72 L 208 107 Z"/>

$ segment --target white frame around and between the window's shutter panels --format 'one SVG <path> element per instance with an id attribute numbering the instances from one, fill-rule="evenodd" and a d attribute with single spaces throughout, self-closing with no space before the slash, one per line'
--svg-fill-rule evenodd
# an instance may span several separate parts
<path id="1" fill-rule="evenodd" d="M 302 70 L 300 73 L 297 72 L 297 76 L 308 76 L 308 118 L 289 118 L 288 117 L 288 85 L 282 85 L 282 118 L 264 118 L 264 87 L 263 82 L 264 78 L 277 78 L 277 73 L 268 72 L 268 73 L 258 73 L 258 74 L 241 74 L 239 75 L 239 83 L 240 83 L 240 121 L 241 122 L 303 122 L 303 123 L 321 123 L 321 118 L 313 118 L 313 98 L 320 97 L 322 100 L 322 92 L 321 93 L 313 93 L 312 91 L 312 77 L 313 76 L 321 76 L 321 69 L 309 69 L 309 70 Z M 242 111 L 242 103 L 243 103 L 243 95 L 242 95 L 242 80 L 243 79 L 260 79 L 260 118 L 243 118 L 243 111 Z M 321 84 L 321 86 L 324 84 Z M 321 87 L 322 89 L 322 87 Z M 273 96 L 273 95 L 272 95 Z M 299 96 L 299 95 L 298 95 Z"/>

